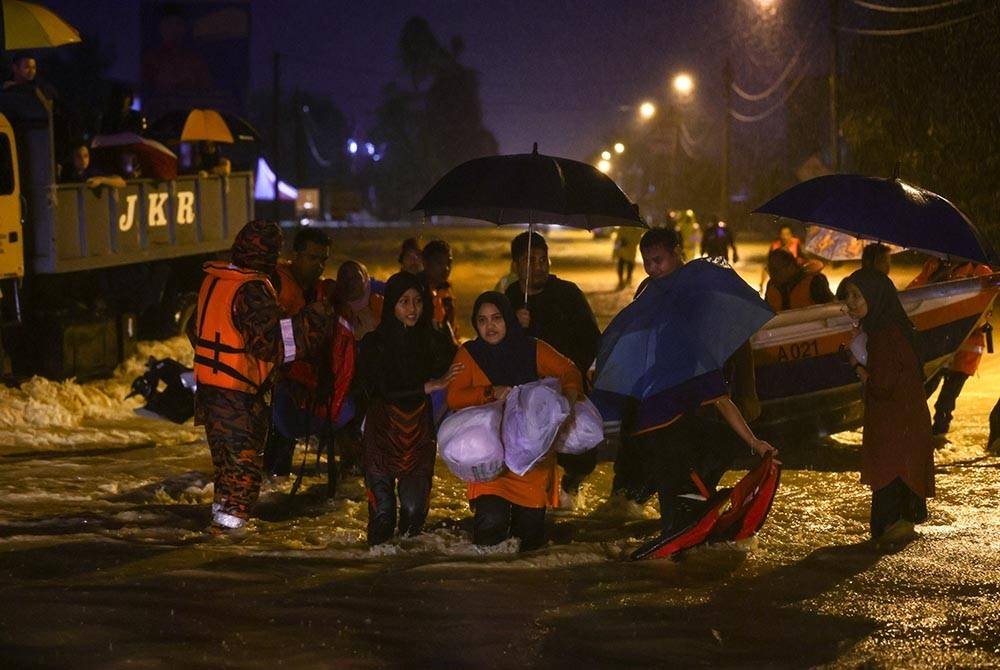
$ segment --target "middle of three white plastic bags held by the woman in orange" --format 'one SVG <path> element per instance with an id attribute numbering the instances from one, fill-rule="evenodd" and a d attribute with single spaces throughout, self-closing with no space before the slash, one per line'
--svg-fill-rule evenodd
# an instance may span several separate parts
<path id="1" fill-rule="evenodd" d="M 555 377 L 512 388 L 504 404 L 501 431 L 507 467 L 518 475 L 530 470 L 548 453 L 567 416 L 569 401 Z"/>

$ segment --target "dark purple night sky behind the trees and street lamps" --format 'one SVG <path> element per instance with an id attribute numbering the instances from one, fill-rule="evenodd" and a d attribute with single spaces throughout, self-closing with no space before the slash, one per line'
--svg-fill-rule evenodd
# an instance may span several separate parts
<path id="1" fill-rule="evenodd" d="M 733 0 L 753 2 L 756 0 Z M 139 7 L 129 0 L 45 0 L 81 33 L 115 46 L 112 77 L 139 78 Z M 252 0 L 252 87 L 270 90 L 271 58 L 288 57 L 286 88 L 326 93 L 364 129 L 384 85 L 405 82 L 396 44 L 407 18 L 425 17 L 440 42 L 465 41 L 480 73 L 486 126 L 503 153 L 589 158 L 633 107 L 667 95 L 680 69 L 699 82 L 707 119 L 721 117 L 729 36 L 718 0 Z M 769 75 L 768 75 L 769 76 Z M 626 109 L 622 109 L 626 107 Z M 717 124 L 716 124 L 717 125 Z"/>

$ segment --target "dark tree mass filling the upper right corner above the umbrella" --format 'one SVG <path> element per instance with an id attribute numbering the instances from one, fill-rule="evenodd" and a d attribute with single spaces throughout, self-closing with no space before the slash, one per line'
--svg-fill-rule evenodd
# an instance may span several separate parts
<path id="1" fill-rule="evenodd" d="M 841 133 L 848 167 L 900 177 L 958 205 L 1000 252 L 1000 7 L 974 20 L 854 45 Z"/>

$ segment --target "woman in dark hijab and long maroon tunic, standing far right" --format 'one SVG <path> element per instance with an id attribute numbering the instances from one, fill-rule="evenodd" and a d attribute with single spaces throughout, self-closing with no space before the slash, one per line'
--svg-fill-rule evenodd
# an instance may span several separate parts
<path id="1" fill-rule="evenodd" d="M 911 539 L 934 495 L 934 444 L 916 331 L 883 273 L 862 268 L 844 280 L 847 313 L 867 336 L 861 481 L 872 489 L 871 534 L 891 544 Z"/>

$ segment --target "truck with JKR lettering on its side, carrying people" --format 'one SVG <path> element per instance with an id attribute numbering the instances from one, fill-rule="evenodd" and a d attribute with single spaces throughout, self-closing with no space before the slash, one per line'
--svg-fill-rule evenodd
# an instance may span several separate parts
<path id="1" fill-rule="evenodd" d="M 4 377 L 110 375 L 138 339 L 182 332 L 202 264 L 254 217 L 253 174 L 57 183 L 51 108 L 0 94 Z"/>

